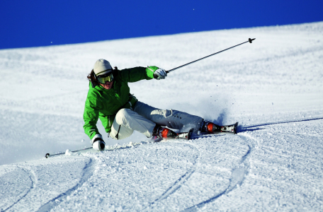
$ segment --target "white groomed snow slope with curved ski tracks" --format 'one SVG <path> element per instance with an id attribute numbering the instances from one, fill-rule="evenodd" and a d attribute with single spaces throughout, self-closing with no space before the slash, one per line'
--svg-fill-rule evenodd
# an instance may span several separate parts
<path id="1" fill-rule="evenodd" d="M 97 59 L 166 70 L 256 37 L 164 81 L 154 107 L 239 122 L 237 135 L 91 146 L 83 110 Z M 0 50 L 0 211 L 323 211 L 323 22 Z M 60 155 L 46 159 L 45 153 Z"/>

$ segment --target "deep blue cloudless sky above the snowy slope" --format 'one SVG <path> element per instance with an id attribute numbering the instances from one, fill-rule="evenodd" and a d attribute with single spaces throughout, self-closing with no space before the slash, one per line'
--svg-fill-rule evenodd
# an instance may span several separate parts
<path id="1" fill-rule="evenodd" d="M 322 0 L 1 0 L 0 49 L 322 20 Z"/>

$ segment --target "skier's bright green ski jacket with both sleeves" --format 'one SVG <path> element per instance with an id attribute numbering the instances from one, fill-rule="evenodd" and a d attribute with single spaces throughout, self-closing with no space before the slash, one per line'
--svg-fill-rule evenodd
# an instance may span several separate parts
<path id="1" fill-rule="evenodd" d="M 122 108 L 130 108 L 135 105 L 137 99 L 130 94 L 128 83 L 134 83 L 143 79 L 154 78 L 157 66 L 135 67 L 113 72 L 113 87 L 103 88 L 97 85 L 93 88 L 91 82 L 84 107 L 84 132 L 92 139 L 98 132 L 96 123 L 101 120 L 106 132 L 111 131 L 115 114 Z"/>

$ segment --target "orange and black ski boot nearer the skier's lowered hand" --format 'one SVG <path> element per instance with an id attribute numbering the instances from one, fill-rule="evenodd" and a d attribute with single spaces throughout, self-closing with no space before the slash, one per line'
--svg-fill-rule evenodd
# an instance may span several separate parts
<path id="1" fill-rule="evenodd" d="M 188 132 L 176 134 L 176 132 L 168 129 L 164 126 L 156 125 L 152 131 L 152 136 L 156 136 L 158 139 L 191 139 L 194 129 L 190 129 Z"/>

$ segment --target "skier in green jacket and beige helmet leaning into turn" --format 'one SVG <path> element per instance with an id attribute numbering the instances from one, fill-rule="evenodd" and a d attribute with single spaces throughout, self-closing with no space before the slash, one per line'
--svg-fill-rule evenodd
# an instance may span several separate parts
<path id="1" fill-rule="evenodd" d="M 106 143 L 98 132 L 96 122 L 101 120 L 106 132 L 113 139 L 125 139 L 133 131 L 147 137 L 160 139 L 189 139 L 191 132 L 202 131 L 210 134 L 221 131 L 236 133 L 236 127 L 224 128 L 203 118 L 177 110 L 161 110 L 138 101 L 130 94 L 128 83 L 143 79 L 166 78 L 164 69 L 157 66 L 114 69 L 106 59 L 98 59 L 89 76 L 89 93 L 84 108 L 84 131 L 90 137 L 93 148 L 103 151 Z M 190 130 L 190 134 L 176 134 L 171 129 Z"/>

